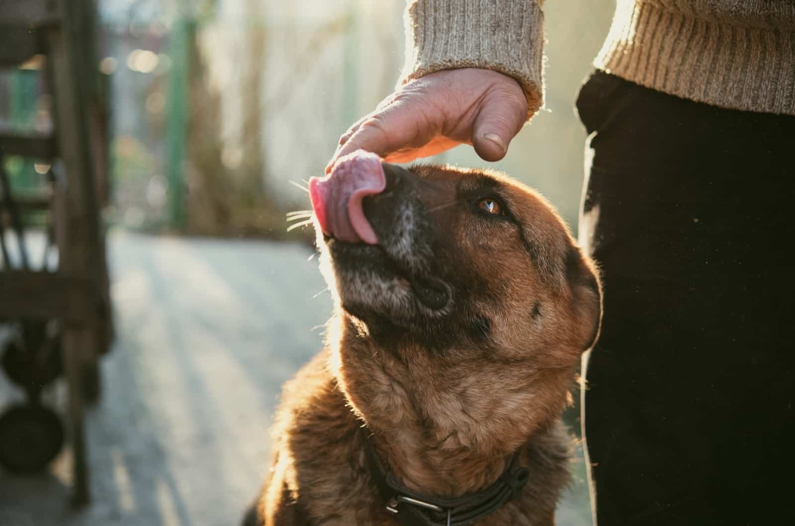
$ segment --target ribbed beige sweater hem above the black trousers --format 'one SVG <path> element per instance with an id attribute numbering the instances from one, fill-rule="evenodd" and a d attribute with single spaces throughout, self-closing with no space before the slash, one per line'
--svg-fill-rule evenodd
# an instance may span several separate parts
<path id="1" fill-rule="evenodd" d="M 619 0 L 595 66 L 696 102 L 795 115 L 793 28 L 795 2 Z"/>

